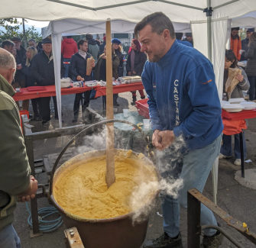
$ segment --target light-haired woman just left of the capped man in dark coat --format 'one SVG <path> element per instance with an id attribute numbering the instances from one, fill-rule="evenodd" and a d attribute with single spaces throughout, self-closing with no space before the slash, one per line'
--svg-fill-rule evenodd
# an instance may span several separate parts
<path id="1" fill-rule="evenodd" d="M 32 76 L 31 73 L 31 66 L 33 63 L 33 57 L 37 54 L 37 49 L 34 47 L 28 47 L 26 56 L 27 60 L 23 63 L 21 66 L 21 72 L 24 74 L 24 79 L 25 79 L 25 87 L 30 87 L 30 86 L 36 86 L 36 82 L 34 77 Z M 40 98 L 34 98 L 31 99 L 31 104 L 32 108 L 34 111 L 34 116 L 31 119 L 32 120 L 37 120 L 41 121 L 41 118 L 39 117 L 39 108 L 38 108 L 38 102 L 40 101 Z M 23 110 L 28 110 L 29 107 L 29 100 L 24 100 L 22 102 L 22 109 Z"/>

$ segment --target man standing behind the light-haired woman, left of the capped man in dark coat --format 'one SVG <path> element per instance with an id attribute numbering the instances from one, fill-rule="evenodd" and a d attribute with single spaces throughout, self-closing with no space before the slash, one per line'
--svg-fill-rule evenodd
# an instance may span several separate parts
<path id="1" fill-rule="evenodd" d="M 15 48 L 17 51 L 17 56 L 15 58 L 16 64 L 21 65 L 23 60 L 26 60 L 26 50 L 24 49 L 24 47 L 21 46 L 21 38 L 13 37 L 11 40 L 15 43 Z M 13 86 L 14 88 L 24 87 L 24 75 L 21 70 L 18 70 L 16 72 Z"/>

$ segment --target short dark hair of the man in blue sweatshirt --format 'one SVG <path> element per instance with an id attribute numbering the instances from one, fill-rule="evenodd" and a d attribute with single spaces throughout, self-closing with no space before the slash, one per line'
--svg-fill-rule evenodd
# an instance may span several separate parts
<path id="1" fill-rule="evenodd" d="M 141 31 L 141 29 L 143 29 L 147 24 L 151 25 L 152 32 L 157 34 L 162 34 L 164 30 L 167 29 L 170 31 L 170 37 L 175 39 L 173 23 L 163 12 L 155 12 L 143 18 L 134 28 L 135 36 L 137 36 L 138 32 Z"/>

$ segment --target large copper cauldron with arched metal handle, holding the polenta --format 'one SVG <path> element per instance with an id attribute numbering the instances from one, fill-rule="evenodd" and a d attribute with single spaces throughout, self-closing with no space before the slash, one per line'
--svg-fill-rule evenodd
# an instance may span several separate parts
<path id="1" fill-rule="evenodd" d="M 136 125 L 129 123 L 128 121 L 119 121 L 119 120 L 109 120 L 102 121 L 98 124 L 106 124 L 109 122 L 122 122 L 126 124 L 130 124 L 131 126 L 138 128 Z M 79 154 L 66 163 L 64 163 L 60 168 L 57 168 L 57 163 L 60 161 L 61 156 L 66 151 L 67 147 L 73 143 L 73 140 L 79 136 L 82 136 L 82 133 L 85 130 L 88 130 L 91 127 L 94 127 L 98 124 L 92 124 L 92 126 L 87 127 L 82 130 L 76 137 L 73 137 L 70 140 L 70 143 L 66 145 L 63 151 L 60 153 L 60 156 L 57 158 L 56 163 L 53 166 L 53 171 L 50 176 L 50 200 L 53 202 L 53 205 L 60 211 L 60 215 L 63 217 L 63 222 L 66 228 L 76 227 L 81 240 L 83 241 L 83 245 L 86 248 L 140 248 L 147 234 L 147 226 L 148 226 L 148 216 L 144 216 L 143 221 L 138 223 L 133 223 L 132 217 L 135 214 L 134 212 L 130 212 L 128 214 L 124 214 L 118 217 L 112 217 L 109 219 L 88 219 L 83 217 L 78 217 L 76 215 L 70 214 L 66 212 L 60 205 L 58 205 L 57 201 L 54 198 L 54 183 L 57 182 L 59 176 L 68 169 L 69 166 L 72 166 L 73 163 L 77 163 L 79 161 L 86 161 L 86 159 L 90 159 L 92 157 L 99 157 L 105 155 L 105 150 L 97 150 L 93 152 Z M 149 152 L 153 158 L 154 153 L 151 151 L 151 146 L 147 137 L 145 140 L 148 143 Z M 115 153 L 125 150 L 115 150 Z M 134 155 L 138 155 L 138 153 L 134 153 Z M 150 159 L 144 157 L 144 161 L 148 164 L 148 166 L 154 166 L 154 163 L 151 162 Z M 154 162 L 154 160 L 153 160 Z M 155 169 L 155 168 L 154 168 Z M 56 172 L 55 172 L 56 170 Z M 157 170 L 155 170 L 157 177 L 159 174 Z M 75 185 L 73 185 L 75 186 Z M 154 193 L 153 197 L 151 197 L 150 201 L 147 202 L 147 205 L 150 205 L 152 201 L 157 197 L 158 191 Z M 143 207 L 142 207 L 143 208 Z"/>

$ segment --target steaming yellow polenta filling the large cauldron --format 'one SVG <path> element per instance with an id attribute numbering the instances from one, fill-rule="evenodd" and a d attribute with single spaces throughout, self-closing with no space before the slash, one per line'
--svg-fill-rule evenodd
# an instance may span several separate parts
<path id="1" fill-rule="evenodd" d="M 125 155 L 125 156 L 124 156 Z M 70 214 L 89 219 L 102 219 L 128 214 L 132 209 L 132 192 L 141 185 L 157 182 L 153 166 L 145 165 L 144 156 L 129 151 L 115 156 L 115 183 L 108 189 L 105 183 L 105 156 L 79 161 L 63 169 L 53 185 L 53 196 L 58 205 Z M 149 201 L 157 187 L 147 195 Z M 140 205 L 141 204 L 141 205 Z"/>

